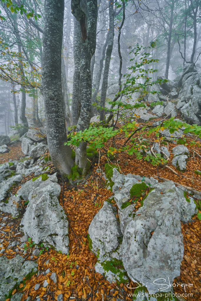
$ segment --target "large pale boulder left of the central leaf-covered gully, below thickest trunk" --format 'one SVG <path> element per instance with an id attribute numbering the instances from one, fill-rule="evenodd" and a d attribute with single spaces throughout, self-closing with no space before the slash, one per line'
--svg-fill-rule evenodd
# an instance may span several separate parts
<path id="1" fill-rule="evenodd" d="M 42 242 L 62 253 L 69 252 L 68 218 L 53 194 L 43 192 L 34 197 L 27 205 L 21 225 L 24 234 L 36 244 Z"/>

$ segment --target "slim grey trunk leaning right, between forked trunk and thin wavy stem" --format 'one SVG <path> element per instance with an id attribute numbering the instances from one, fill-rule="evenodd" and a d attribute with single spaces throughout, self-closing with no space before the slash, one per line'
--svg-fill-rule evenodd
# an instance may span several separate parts
<path id="1" fill-rule="evenodd" d="M 105 67 L 103 72 L 102 88 L 101 88 L 101 97 L 100 97 L 100 106 L 105 107 L 105 99 L 108 88 L 108 74 L 110 68 L 110 60 L 113 49 L 114 42 L 114 4 L 111 2 L 109 4 L 109 36 L 108 36 L 108 47 L 106 49 L 105 55 Z M 105 120 L 105 110 L 100 110 L 100 121 Z"/>

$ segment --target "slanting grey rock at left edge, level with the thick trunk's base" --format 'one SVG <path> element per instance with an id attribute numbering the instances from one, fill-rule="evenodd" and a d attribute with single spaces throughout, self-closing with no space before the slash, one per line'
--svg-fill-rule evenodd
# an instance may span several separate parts
<path id="1" fill-rule="evenodd" d="M 11 178 L 8 178 L 6 181 L 0 183 L 0 209 L 2 206 L 2 201 L 6 199 L 6 197 L 10 196 L 11 188 L 20 183 L 23 177 L 21 175 L 14 175 Z M 1 209 L 2 210 L 2 209 Z M 3 210 L 2 210 L 3 211 Z"/>

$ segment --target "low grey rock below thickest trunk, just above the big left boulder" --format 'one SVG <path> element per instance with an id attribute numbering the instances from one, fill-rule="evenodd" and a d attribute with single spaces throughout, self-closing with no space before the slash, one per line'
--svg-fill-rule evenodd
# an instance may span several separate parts
<path id="1" fill-rule="evenodd" d="M 36 196 L 39 197 L 44 192 L 49 192 L 58 197 L 61 192 L 61 186 L 57 181 L 56 173 L 54 175 L 48 175 L 46 181 L 42 181 L 42 177 L 39 177 L 35 181 L 30 180 L 21 185 L 17 194 L 19 197 L 22 197 L 23 200 L 29 200 L 30 202 Z"/>

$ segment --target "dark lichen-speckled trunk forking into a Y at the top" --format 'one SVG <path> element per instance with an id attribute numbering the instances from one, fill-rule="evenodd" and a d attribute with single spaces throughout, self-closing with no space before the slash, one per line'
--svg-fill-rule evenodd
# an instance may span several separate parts
<path id="1" fill-rule="evenodd" d="M 96 50 L 96 26 L 97 26 L 97 0 L 87 0 L 87 27 L 85 13 L 80 8 L 80 0 L 71 0 L 72 13 L 80 22 L 81 29 L 81 57 L 80 57 L 80 97 L 81 111 L 76 131 L 87 129 L 91 118 L 91 58 Z M 76 147 L 75 163 L 83 169 L 83 175 L 87 172 L 86 142 Z"/>

